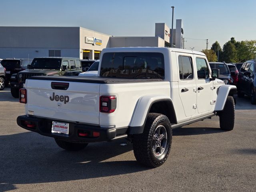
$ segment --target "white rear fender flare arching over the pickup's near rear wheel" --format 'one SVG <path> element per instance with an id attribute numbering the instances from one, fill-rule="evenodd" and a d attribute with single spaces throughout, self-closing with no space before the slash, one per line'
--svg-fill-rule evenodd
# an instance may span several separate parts
<path id="1" fill-rule="evenodd" d="M 142 133 L 149 113 L 166 115 L 171 124 L 177 124 L 176 113 L 171 98 L 166 96 L 146 96 L 140 98 L 136 104 L 129 124 L 128 134 Z"/>

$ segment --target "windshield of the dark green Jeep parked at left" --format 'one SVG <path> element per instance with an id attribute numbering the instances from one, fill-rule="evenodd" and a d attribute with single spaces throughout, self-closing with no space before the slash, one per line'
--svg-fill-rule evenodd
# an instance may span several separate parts
<path id="1" fill-rule="evenodd" d="M 30 68 L 33 69 L 60 69 L 61 59 L 59 58 L 34 58 Z"/>

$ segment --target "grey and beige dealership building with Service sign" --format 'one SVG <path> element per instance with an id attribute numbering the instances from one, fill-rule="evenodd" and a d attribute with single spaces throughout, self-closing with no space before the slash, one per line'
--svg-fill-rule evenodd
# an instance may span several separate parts
<path id="1" fill-rule="evenodd" d="M 182 48 L 183 24 L 176 20 L 173 42 Z M 0 26 L 0 58 L 48 56 L 99 59 L 102 49 L 114 47 L 169 47 L 170 28 L 155 24 L 155 36 L 118 37 L 82 27 Z"/>

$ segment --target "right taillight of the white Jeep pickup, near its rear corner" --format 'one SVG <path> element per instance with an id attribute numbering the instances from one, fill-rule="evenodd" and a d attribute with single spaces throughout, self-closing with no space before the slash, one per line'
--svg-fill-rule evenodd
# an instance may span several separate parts
<path id="1" fill-rule="evenodd" d="M 116 110 L 116 96 L 100 96 L 100 112 L 112 113 Z"/>

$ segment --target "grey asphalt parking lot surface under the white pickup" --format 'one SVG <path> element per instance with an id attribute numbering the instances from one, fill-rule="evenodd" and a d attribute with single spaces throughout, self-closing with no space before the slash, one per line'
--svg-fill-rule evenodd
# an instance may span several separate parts
<path id="1" fill-rule="evenodd" d="M 235 128 L 218 117 L 173 130 L 163 166 L 137 164 L 126 140 L 89 144 L 79 152 L 20 128 L 24 105 L 10 88 L 0 91 L 0 192 L 2 191 L 256 191 L 256 105 L 238 98 Z"/>

